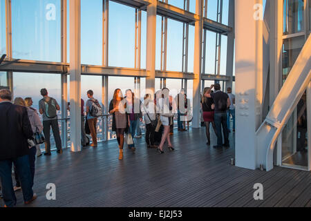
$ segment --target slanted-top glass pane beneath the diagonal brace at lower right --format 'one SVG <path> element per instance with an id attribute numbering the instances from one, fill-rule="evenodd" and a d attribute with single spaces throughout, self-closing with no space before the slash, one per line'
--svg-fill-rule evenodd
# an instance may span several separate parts
<path id="1" fill-rule="evenodd" d="M 282 164 L 308 167 L 307 95 L 301 97 L 282 133 Z"/>

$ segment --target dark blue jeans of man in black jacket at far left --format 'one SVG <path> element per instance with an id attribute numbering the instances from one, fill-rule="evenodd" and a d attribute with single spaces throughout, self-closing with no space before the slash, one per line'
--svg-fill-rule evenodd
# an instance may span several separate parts
<path id="1" fill-rule="evenodd" d="M 21 189 L 23 190 L 24 202 L 29 201 L 33 197 L 32 177 L 29 166 L 29 157 L 24 155 L 12 160 L 0 161 L 0 177 L 2 184 L 3 200 L 6 206 L 12 207 L 16 205 L 16 196 L 13 190 L 12 182 L 12 164 L 15 165 L 19 180 L 21 181 Z"/>

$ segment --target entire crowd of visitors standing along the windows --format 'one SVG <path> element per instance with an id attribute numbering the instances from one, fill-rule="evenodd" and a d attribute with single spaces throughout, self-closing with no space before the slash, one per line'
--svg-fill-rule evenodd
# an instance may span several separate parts
<path id="1" fill-rule="evenodd" d="M 212 89 L 215 88 L 215 92 Z M 227 88 L 227 94 L 220 91 L 220 85 L 215 84 L 211 88 L 205 88 L 202 95 L 202 118 L 206 126 L 207 144 L 211 144 L 209 125 L 212 124 L 218 137 L 215 148 L 229 147 L 229 117 L 234 118 L 235 98 L 231 88 Z M 29 204 L 37 198 L 32 186 L 35 177 L 36 156 L 42 155 L 39 143 L 35 140 L 36 134 L 44 134 L 46 151 L 50 152 L 50 128 L 52 128 L 57 153 L 62 153 L 62 140 L 59 135 L 57 111 L 60 110 L 56 99 L 48 96 L 46 88 L 40 91 L 42 99 L 39 101 L 39 113 L 32 108 L 32 98 L 15 98 L 12 102 L 10 90 L 0 90 L 0 177 L 3 198 L 6 206 L 15 206 L 15 191 L 23 189 L 23 198 Z M 86 131 L 92 137 L 89 146 L 97 146 L 97 117 L 101 112 L 101 106 L 95 99 L 93 90 L 87 91 L 86 116 L 84 116 L 84 100 L 81 99 L 82 119 L 82 146 L 88 146 Z M 68 103 L 70 111 L 70 103 Z M 173 98 L 168 88 L 162 88 L 152 96 L 144 95 L 144 101 L 135 97 L 132 90 L 128 89 L 123 95 L 120 88 L 115 89 L 113 99 L 109 104 L 109 114 L 113 116 L 112 131 L 117 135 L 119 148 L 119 160 L 123 159 L 124 143 L 135 153 L 135 141 L 133 138 L 141 136 L 140 122 L 144 118 L 146 125 L 145 140 L 147 148 L 156 148 L 163 154 L 167 143 L 169 151 L 174 151 L 170 139 L 173 127 L 173 118 L 177 115 L 178 131 L 186 131 L 186 123 L 191 122 L 191 106 L 185 90 Z M 85 122 L 86 120 L 86 122 Z M 225 144 L 223 144 L 223 135 Z M 234 129 L 235 125 L 233 126 Z M 138 132 L 138 136 L 135 133 Z M 43 135 L 42 135 L 43 136 Z M 6 148 L 4 148 L 6 147 Z M 12 184 L 12 166 L 15 171 L 15 186 Z"/>

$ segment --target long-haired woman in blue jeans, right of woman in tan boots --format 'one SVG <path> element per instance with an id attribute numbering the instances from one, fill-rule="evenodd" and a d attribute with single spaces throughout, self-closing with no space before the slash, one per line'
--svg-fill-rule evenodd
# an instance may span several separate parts
<path id="1" fill-rule="evenodd" d="M 135 99 L 134 93 L 131 89 L 126 90 L 126 113 L 127 122 L 129 124 L 129 133 L 131 133 L 132 139 L 135 136 L 135 131 L 138 123 L 138 119 L 142 122 L 142 111 L 140 110 L 140 100 Z M 129 145 L 129 148 L 135 152 L 135 144 Z"/>

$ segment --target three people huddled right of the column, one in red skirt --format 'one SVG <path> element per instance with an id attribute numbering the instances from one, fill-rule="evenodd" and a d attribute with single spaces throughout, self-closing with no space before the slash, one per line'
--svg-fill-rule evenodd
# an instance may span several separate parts
<path id="1" fill-rule="evenodd" d="M 212 90 L 213 88 L 215 91 Z M 204 88 L 201 99 L 202 122 L 206 127 L 207 145 L 211 145 L 209 131 L 211 124 L 217 136 L 217 145 L 214 148 L 223 148 L 223 146 L 229 148 L 230 116 L 233 119 L 233 132 L 235 132 L 235 96 L 232 94 L 232 88 L 227 88 L 227 93 L 220 89 L 220 84 Z"/>

